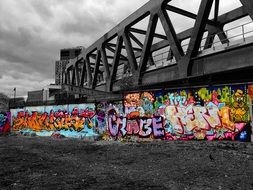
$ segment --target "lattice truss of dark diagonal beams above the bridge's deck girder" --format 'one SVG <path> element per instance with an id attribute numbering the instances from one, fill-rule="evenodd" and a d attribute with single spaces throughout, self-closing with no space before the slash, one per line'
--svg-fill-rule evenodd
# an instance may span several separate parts
<path id="1" fill-rule="evenodd" d="M 152 83 L 159 78 L 154 71 L 163 67 L 171 69 L 168 80 L 191 76 L 199 52 L 230 43 L 226 24 L 253 18 L 252 0 L 238 0 L 237 8 L 221 14 L 224 1 L 201 0 L 195 13 L 176 0 L 149 1 L 72 60 L 64 83 L 111 92 L 122 83 L 129 88 Z M 176 28 L 178 22 L 187 27 Z"/>

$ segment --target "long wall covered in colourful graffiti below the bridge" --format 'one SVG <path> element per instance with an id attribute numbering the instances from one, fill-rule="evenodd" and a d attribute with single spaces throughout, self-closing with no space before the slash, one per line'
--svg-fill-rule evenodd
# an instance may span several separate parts
<path id="1" fill-rule="evenodd" d="M 247 85 L 131 93 L 121 102 L 11 110 L 12 131 L 103 140 L 248 140 Z"/>

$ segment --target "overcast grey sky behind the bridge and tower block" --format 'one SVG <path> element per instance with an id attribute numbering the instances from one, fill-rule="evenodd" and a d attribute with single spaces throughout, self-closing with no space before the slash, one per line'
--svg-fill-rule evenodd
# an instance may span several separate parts
<path id="1" fill-rule="evenodd" d="M 179 6 L 187 2 L 196 13 L 200 0 L 191 1 L 177 2 Z M 222 2 L 229 9 L 238 6 L 238 1 Z M 60 49 L 88 47 L 146 2 L 0 0 L 0 92 L 13 97 L 16 88 L 17 96 L 25 96 L 27 91 L 54 83 Z"/>

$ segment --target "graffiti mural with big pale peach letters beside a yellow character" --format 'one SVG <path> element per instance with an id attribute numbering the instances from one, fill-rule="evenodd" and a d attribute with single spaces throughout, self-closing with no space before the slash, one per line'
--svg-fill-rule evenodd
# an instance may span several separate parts
<path id="1" fill-rule="evenodd" d="M 166 92 L 157 99 L 168 139 L 234 140 L 249 121 L 244 86 Z"/>

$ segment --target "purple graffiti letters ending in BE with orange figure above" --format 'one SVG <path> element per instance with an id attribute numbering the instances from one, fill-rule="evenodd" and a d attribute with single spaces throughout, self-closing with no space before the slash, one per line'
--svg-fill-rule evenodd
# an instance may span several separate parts
<path id="1" fill-rule="evenodd" d="M 163 117 L 154 115 L 152 93 L 128 94 L 124 99 L 124 112 L 111 106 L 107 112 L 108 131 L 115 139 L 127 136 L 163 138 Z"/>

